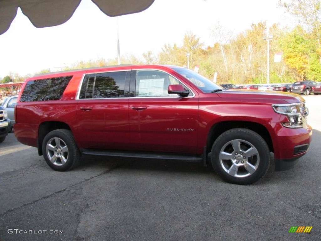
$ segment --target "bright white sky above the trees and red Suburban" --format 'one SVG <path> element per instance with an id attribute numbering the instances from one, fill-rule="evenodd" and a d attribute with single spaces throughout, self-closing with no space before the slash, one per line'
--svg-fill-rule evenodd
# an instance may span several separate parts
<path id="1" fill-rule="evenodd" d="M 9 30 L 0 35 L 0 78 L 10 72 L 34 74 L 44 68 L 71 66 L 77 61 L 117 57 L 117 19 L 121 55 L 157 54 L 165 44 L 182 45 L 187 31 L 213 46 L 212 31 L 220 24 L 233 33 L 252 23 L 284 25 L 278 0 L 155 0 L 145 11 L 108 17 L 90 0 L 82 0 L 66 23 L 36 28 L 18 9 Z"/>

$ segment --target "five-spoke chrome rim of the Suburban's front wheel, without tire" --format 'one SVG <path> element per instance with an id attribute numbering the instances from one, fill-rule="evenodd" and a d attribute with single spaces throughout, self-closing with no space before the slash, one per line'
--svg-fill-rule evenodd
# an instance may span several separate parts
<path id="1" fill-rule="evenodd" d="M 260 163 L 259 153 L 250 142 L 235 139 L 220 150 L 220 164 L 233 177 L 247 177 L 255 173 Z"/>

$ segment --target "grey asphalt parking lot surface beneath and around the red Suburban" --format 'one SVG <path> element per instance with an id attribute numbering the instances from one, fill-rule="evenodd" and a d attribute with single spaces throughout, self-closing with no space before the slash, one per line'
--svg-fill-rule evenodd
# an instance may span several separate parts
<path id="1" fill-rule="evenodd" d="M 198 162 L 83 156 L 55 172 L 13 133 L 0 144 L 0 240 L 320 240 L 321 96 L 295 168 L 225 183 Z M 312 226 L 310 233 L 289 233 Z"/>

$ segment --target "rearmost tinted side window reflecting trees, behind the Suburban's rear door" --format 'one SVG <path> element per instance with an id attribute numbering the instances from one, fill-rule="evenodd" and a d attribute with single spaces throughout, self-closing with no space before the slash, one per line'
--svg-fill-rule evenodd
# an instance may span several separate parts
<path id="1" fill-rule="evenodd" d="M 60 100 L 73 76 L 29 81 L 20 97 L 21 102 Z"/>

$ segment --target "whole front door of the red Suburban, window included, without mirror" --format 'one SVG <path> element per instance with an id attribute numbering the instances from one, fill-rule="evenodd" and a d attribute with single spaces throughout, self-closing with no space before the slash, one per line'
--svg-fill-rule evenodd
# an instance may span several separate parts
<path id="1" fill-rule="evenodd" d="M 139 151 L 195 153 L 198 95 L 168 94 L 168 85 L 183 85 L 160 70 L 133 70 L 129 98 L 131 147 Z M 133 91 L 132 91 L 133 90 Z"/>

